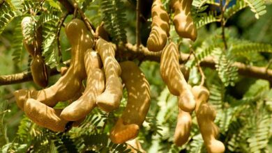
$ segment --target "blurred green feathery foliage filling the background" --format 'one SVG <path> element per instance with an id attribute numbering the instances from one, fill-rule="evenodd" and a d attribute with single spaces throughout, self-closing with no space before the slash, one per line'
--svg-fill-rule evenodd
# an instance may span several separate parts
<path id="1" fill-rule="evenodd" d="M 70 45 L 61 28 L 61 54 L 57 47 L 56 31 L 66 9 L 58 1 L 0 1 L 0 75 L 29 71 L 31 57 L 22 46 L 22 17 L 36 19 L 43 25 L 43 56 L 50 67 L 61 67 L 70 58 Z M 104 21 L 113 42 L 135 44 L 135 0 L 77 0 L 93 26 Z M 142 44 L 151 29 L 150 1 L 142 8 Z M 272 152 L 272 90 L 271 82 L 239 76 L 231 64 L 239 61 L 248 65 L 271 68 L 272 58 L 272 1 L 229 0 L 224 13 L 227 51 L 221 37 L 220 1 L 194 0 L 192 15 L 198 27 L 195 43 L 179 38 L 171 26 L 171 38 L 179 44 L 182 53 L 195 50 L 198 61 L 213 56 L 216 70 L 202 67 L 205 86 L 211 92 L 209 103 L 217 110 L 216 124 L 220 127 L 219 139 L 226 152 Z M 226 1 L 222 1 L 226 3 Z M 169 11 L 169 0 L 163 1 Z M 107 9 L 107 7 L 112 9 Z M 45 10 L 43 10 L 43 9 Z M 111 15 L 109 19 L 109 15 Z M 70 21 L 69 15 L 64 23 Z M 31 35 L 31 33 L 29 33 Z M 177 99 L 171 95 L 160 78 L 159 63 L 139 61 L 141 70 L 151 85 L 151 107 L 137 139 L 146 152 L 206 152 L 199 133 L 195 113 L 190 138 L 186 145 L 176 147 L 172 142 Z M 200 83 L 197 62 L 184 63 L 190 69 L 188 82 Z M 50 85 L 60 76 L 50 77 Z M 126 144 L 114 145 L 107 135 L 116 118 L 126 106 L 124 92 L 121 107 L 113 113 L 93 110 L 80 127 L 66 133 L 54 133 L 38 127 L 17 108 L 13 92 L 21 88 L 39 90 L 32 81 L 0 86 L 0 150 L 1 152 L 129 152 Z M 64 107 L 59 104 L 58 107 Z"/>

